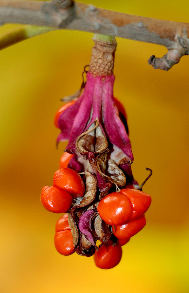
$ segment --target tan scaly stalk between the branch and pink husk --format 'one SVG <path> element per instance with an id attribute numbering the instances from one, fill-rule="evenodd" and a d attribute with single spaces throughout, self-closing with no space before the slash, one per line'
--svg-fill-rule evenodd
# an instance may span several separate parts
<path id="1" fill-rule="evenodd" d="M 93 76 L 103 76 L 113 74 L 115 50 L 117 42 L 115 37 L 95 35 L 95 42 L 92 48 L 92 56 L 88 71 Z"/>

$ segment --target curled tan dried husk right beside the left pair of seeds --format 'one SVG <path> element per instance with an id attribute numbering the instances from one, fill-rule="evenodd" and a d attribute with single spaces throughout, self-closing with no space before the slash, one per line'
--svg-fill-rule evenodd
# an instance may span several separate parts
<path id="1" fill-rule="evenodd" d="M 96 191 L 97 191 L 97 179 L 95 174 L 91 174 L 89 172 L 86 172 L 86 192 L 84 194 L 83 199 L 81 200 L 79 207 L 85 207 L 87 205 L 90 205 L 91 202 L 96 197 Z"/>

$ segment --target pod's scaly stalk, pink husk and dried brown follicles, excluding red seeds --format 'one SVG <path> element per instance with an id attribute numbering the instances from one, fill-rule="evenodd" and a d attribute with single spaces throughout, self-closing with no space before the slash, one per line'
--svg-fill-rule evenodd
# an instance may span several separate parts
<path id="1" fill-rule="evenodd" d="M 83 93 L 59 116 L 61 133 L 57 138 L 57 143 L 68 140 L 65 151 L 74 154 L 68 168 L 81 173 L 86 184 L 84 197 L 76 198 L 68 212 L 75 251 L 85 256 L 98 249 L 97 240 L 101 245 L 115 240 L 110 225 L 98 214 L 99 201 L 117 186 L 124 188 L 127 183 L 139 187 L 131 171 L 133 154 L 126 115 L 113 96 L 117 42 L 102 35 L 93 40 Z"/>

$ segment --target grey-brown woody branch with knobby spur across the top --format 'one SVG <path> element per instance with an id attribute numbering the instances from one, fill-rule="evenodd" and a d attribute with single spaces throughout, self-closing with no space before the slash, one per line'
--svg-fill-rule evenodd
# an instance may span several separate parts
<path id="1" fill-rule="evenodd" d="M 148 60 L 154 68 L 170 69 L 189 54 L 189 23 L 165 21 L 96 8 L 72 0 L 0 0 L 0 23 L 23 23 L 54 29 L 83 30 L 167 47 L 162 58 Z"/>

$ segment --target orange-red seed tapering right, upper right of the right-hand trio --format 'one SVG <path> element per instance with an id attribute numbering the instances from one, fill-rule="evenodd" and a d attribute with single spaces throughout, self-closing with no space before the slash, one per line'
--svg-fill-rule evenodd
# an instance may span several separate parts
<path id="1" fill-rule="evenodd" d="M 151 204 L 151 196 L 141 190 L 125 188 L 121 189 L 120 193 L 125 194 L 132 205 L 132 215 L 129 221 L 142 216 Z"/>

